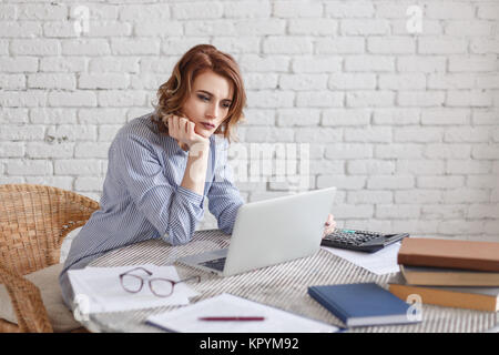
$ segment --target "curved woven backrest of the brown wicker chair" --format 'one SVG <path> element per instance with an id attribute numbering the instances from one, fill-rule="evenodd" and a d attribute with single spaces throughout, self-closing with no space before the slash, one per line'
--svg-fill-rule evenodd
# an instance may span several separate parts
<path id="1" fill-rule="evenodd" d="M 59 263 L 64 237 L 98 209 L 99 203 L 72 191 L 0 185 L 0 265 L 26 275 Z"/>

